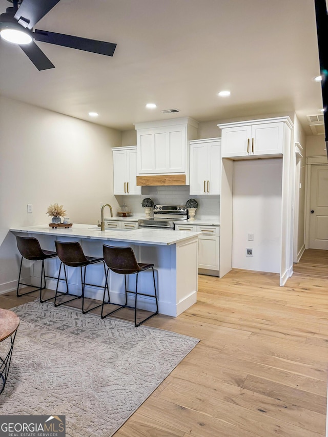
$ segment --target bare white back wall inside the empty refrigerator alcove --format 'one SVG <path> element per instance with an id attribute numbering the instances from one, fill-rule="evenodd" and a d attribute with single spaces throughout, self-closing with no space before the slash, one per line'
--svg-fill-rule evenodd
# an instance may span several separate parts
<path id="1" fill-rule="evenodd" d="M 282 159 L 233 163 L 232 267 L 280 272 Z M 254 241 L 248 241 L 248 233 Z M 245 255 L 253 248 L 253 257 Z"/>

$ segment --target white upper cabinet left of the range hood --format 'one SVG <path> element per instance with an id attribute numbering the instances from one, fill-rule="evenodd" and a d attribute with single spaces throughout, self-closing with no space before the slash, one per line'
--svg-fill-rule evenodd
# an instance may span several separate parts
<path id="1" fill-rule="evenodd" d="M 137 179 L 137 147 L 116 147 L 113 151 L 114 194 L 141 194 Z"/>

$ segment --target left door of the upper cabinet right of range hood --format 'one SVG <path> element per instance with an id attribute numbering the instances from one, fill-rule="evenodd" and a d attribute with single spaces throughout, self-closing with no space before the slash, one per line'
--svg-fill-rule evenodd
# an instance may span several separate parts
<path id="1" fill-rule="evenodd" d="M 190 194 L 206 194 L 208 148 L 206 143 L 190 145 Z"/>

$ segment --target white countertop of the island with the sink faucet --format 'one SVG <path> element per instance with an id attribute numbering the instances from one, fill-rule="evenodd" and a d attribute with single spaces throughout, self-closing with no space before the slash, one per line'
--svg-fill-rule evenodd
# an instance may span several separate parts
<path id="1" fill-rule="evenodd" d="M 198 236 L 199 232 L 190 231 L 162 231 L 159 229 L 134 229 L 132 231 L 100 231 L 97 225 L 73 223 L 72 227 L 52 228 L 49 224 L 11 228 L 11 232 L 25 232 L 30 234 L 43 234 L 76 238 L 89 238 L 92 240 L 129 241 L 141 244 L 176 244 L 183 240 Z"/>

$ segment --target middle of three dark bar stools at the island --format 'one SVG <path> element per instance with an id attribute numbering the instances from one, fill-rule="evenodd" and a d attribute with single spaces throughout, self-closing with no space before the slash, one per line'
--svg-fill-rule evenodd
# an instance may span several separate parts
<path id="1" fill-rule="evenodd" d="M 78 243 L 77 241 L 57 241 L 55 240 L 55 245 L 56 245 L 56 250 L 57 250 L 57 254 L 58 254 L 58 258 L 60 259 L 60 266 L 59 266 L 59 272 L 58 272 L 58 279 L 57 279 L 57 286 L 56 286 L 56 294 L 55 294 L 55 306 L 59 306 L 59 305 L 63 305 L 65 303 L 71 302 L 72 300 L 75 299 L 80 299 L 82 298 L 82 313 L 83 314 L 87 314 L 89 313 L 89 311 L 91 311 L 92 309 L 98 308 L 99 306 L 102 306 L 103 304 L 100 305 L 96 305 L 90 309 L 88 309 L 87 311 L 84 309 L 84 290 L 85 290 L 85 285 L 92 285 L 95 287 L 101 287 L 100 285 L 95 285 L 95 284 L 88 284 L 86 283 L 86 270 L 87 270 L 87 266 L 90 264 L 95 264 L 96 262 L 102 262 L 104 264 L 104 270 L 105 270 L 105 274 L 106 274 L 106 266 L 105 266 L 105 262 L 104 262 L 104 258 L 102 257 L 88 257 L 84 254 L 83 249 L 80 245 L 80 243 Z M 65 273 L 65 282 L 66 282 L 66 293 L 65 292 L 58 292 L 58 283 L 59 283 L 59 279 L 60 279 L 60 270 L 61 270 L 61 266 L 64 265 L 64 273 Z M 71 293 L 69 293 L 69 289 L 68 289 L 68 282 L 67 282 L 67 275 L 66 275 L 66 267 L 80 267 L 80 272 L 81 272 L 81 295 L 80 296 L 76 296 L 73 295 Z M 83 268 L 84 267 L 84 274 L 83 274 Z M 105 294 L 105 293 L 104 293 Z M 69 299 L 67 301 L 64 302 L 60 302 L 57 303 L 57 296 L 60 295 L 65 295 L 65 296 L 74 296 L 73 299 Z M 108 299 L 109 299 L 109 292 L 108 292 Z"/>

